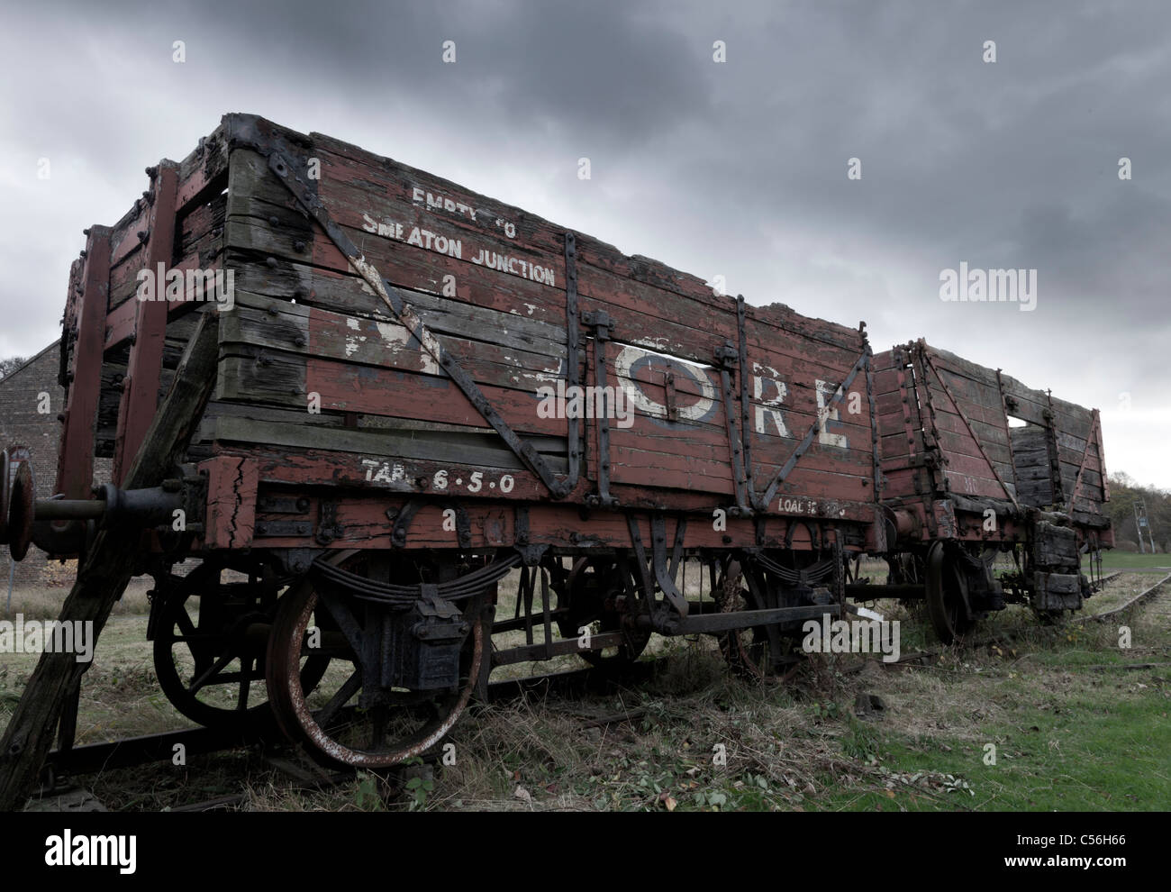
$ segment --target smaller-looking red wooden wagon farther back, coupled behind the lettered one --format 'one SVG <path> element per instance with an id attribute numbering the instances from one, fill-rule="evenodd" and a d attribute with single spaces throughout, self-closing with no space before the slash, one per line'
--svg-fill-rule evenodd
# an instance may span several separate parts
<path id="1" fill-rule="evenodd" d="M 944 641 L 1006 602 L 1080 609 L 1082 555 L 1114 544 L 1097 411 L 923 341 L 876 356 L 874 382 L 891 578 L 850 595 L 925 596 Z"/>

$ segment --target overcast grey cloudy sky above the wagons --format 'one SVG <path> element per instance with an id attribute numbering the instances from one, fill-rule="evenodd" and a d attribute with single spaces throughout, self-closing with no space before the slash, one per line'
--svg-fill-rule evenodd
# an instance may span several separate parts
<path id="1" fill-rule="evenodd" d="M 865 320 L 876 349 L 925 337 L 1002 366 L 1100 407 L 1108 468 L 1171 488 L 1165 0 L 85 0 L 5 19 L 0 357 L 57 337 L 82 228 L 246 111 L 752 303 Z M 1038 270 L 1035 309 L 941 300 L 961 261 Z"/>

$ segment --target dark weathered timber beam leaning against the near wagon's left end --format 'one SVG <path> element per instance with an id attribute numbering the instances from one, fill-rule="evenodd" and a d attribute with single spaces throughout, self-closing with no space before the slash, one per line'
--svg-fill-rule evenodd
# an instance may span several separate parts
<path id="1" fill-rule="evenodd" d="M 126 474 L 125 488 L 157 486 L 183 459 L 215 383 L 218 322 L 214 310 L 203 311 L 174 383 Z M 61 608 L 61 622 L 94 624 L 94 644 L 133 575 L 139 535 L 135 528 L 98 533 Z M 36 783 L 66 699 L 89 665 L 77 663 L 73 653 L 41 654 L 0 741 L 0 811 L 19 809 Z"/>

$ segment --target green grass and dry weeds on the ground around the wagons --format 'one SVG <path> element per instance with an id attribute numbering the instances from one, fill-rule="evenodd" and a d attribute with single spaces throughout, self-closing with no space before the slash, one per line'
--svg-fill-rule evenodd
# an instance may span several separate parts
<path id="1" fill-rule="evenodd" d="M 1090 611 L 1150 584 L 1110 581 Z M 1169 586 L 1171 588 L 1171 586 Z M 242 794 L 253 810 L 1160 810 L 1171 808 L 1171 591 L 1109 623 L 1041 627 L 1011 608 L 930 666 L 814 657 L 790 682 L 731 675 L 708 638 L 656 639 L 664 666 L 636 689 L 477 706 L 447 742 L 453 764 L 324 791 L 235 750 L 85 778 L 108 807 L 160 809 Z M 936 644 L 915 610 L 902 651 Z M 83 685 L 80 739 L 183 727 L 158 693 L 145 619 L 116 618 Z M 1131 647 L 1118 646 L 1118 626 Z M 576 658 L 570 658 L 576 659 Z M 0 723 L 33 658 L 0 656 Z M 882 719 L 855 714 L 860 694 Z M 989 763 L 994 747 L 995 762 Z"/>

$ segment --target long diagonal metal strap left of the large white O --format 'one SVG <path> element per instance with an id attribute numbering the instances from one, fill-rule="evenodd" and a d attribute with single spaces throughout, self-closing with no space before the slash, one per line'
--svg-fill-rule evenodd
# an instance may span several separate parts
<path id="1" fill-rule="evenodd" d="M 500 434 L 500 439 L 505 441 L 516 458 L 540 478 L 541 482 L 549 490 L 549 494 L 554 499 L 563 499 L 568 495 L 571 490 L 569 481 L 559 480 L 545 459 L 533 448 L 533 444 L 521 440 L 516 435 L 516 432 L 500 417 L 500 413 L 493 409 L 487 397 L 484 396 L 484 392 L 472 380 L 472 377 L 464 371 L 451 351 L 446 350 L 426 325 L 423 324 L 423 320 L 419 318 L 415 309 L 403 299 L 399 290 L 395 288 L 389 279 L 382 276 L 375 266 L 365 259 L 365 255 L 358 247 L 350 241 L 350 238 L 342 232 L 342 228 L 334 222 L 329 212 L 322 205 L 321 199 L 307 183 L 293 172 L 293 166 L 285 156 L 275 149 L 262 144 L 254 145 L 253 147 L 261 155 L 268 155 L 268 166 L 276 174 L 278 179 L 285 184 L 301 206 L 326 231 L 330 240 L 337 246 L 337 249 L 349 258 L 358 275 L 365 280 L 367 284 L 374 289 L 375 294 L 382 299 L 391 313 L 398 317 L 398 321 L 403 323 L 406 330 L 418 339 L 422 348 L 434 357 L 443 370 L 447 372 L 451 379 L 456 382 L 456 385 L 464 392 L 468 402 L 475 406 L 475 410 Z"/>

